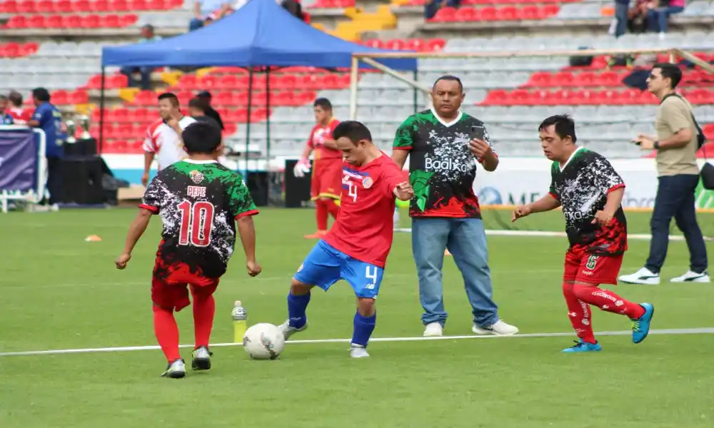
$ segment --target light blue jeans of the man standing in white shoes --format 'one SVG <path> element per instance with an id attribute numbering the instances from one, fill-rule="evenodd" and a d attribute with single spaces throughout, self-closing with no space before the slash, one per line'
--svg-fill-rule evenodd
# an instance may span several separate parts
<path id="1" fill-rule="evenodd" d="M 444 250 L 453 255 L 461 270 L 473 322 L 488 327 L 498 321 L 488 268 L 486 230 L 479 218 L 412 218 L 411 245 L 419 275 L 419 299 L 424 308 L 421 322 L 444 325 L 442 268 Z"/>

